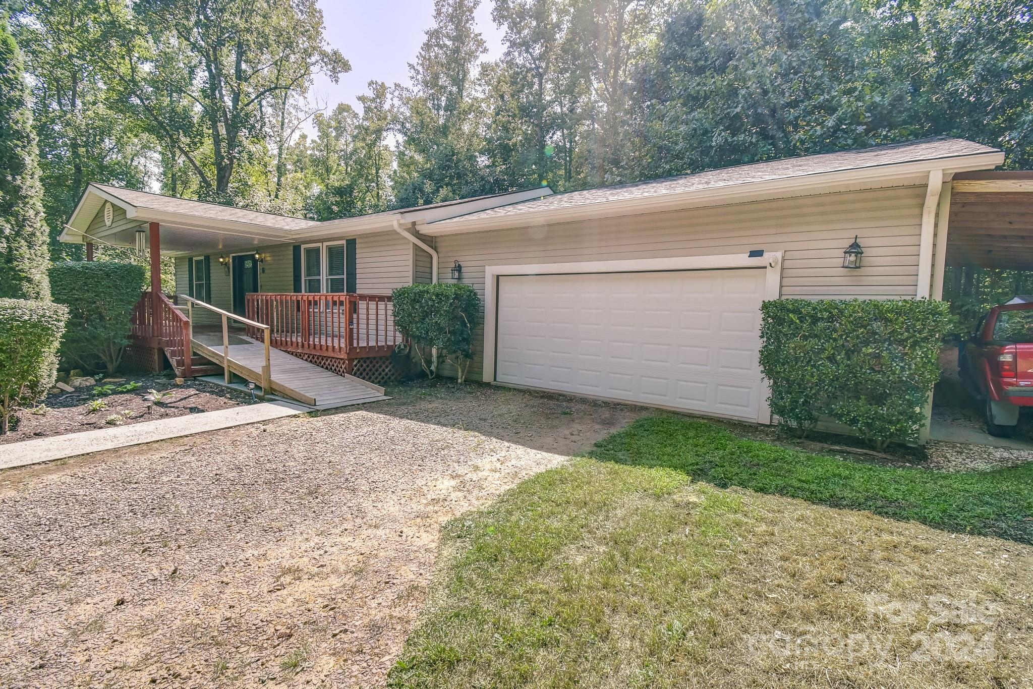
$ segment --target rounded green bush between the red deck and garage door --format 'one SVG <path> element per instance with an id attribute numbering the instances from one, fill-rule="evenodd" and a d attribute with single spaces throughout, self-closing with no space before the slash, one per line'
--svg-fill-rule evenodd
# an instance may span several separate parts
<path id="1" fill-rule="evenodd" d="M 419 357 L 431 378 L 442 359 L 456 366 L 459 382 L 473 359 L 473 328 L 480 312 L 480 297 L 473 287 L 453 283 L 408 285 L 392 293 L 395 326 Z M 422 349 L 437 348 L 437 357 L 428 361 Z"/>

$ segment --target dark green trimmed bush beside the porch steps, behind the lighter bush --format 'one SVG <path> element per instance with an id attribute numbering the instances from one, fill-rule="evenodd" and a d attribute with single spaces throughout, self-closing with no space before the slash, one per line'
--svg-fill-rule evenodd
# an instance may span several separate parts
<path id="1" fill-rule="evenodd" d="M 115 373 L 129 343 L 144 269 L 114 261 L 66 261 L 51 268 L 54 301 L 68 307 L 61 357 L 79 368 Z"/>

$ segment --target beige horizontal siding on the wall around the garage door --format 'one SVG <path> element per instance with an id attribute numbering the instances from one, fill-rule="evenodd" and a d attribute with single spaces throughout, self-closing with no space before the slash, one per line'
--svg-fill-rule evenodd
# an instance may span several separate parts
<path id="1" fill-rule="evenodd" d="M 484 267 L 782 251 L 782 296 L 914 297 L 925 187 L 849 191 L 437 238 L 438 279 L 484 296 Z M 863 268 L 841 268 L 854 234 Z M 469 375 L 479 378 L 483 330 Z"/>

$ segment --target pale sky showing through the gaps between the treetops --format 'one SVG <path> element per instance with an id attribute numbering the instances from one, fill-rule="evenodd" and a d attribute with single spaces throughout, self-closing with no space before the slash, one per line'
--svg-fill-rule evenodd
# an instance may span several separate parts
<path id="1" fill-rule="evenodd" d="M 326 76 L 316 77 L 311 95 L 328 109 L 348 102 L 361 109 L 355 96 L 366 92 L 370 80 L 409 84 L 408 63 L 416 59 L 425 32 L 434 21 L 433 0 L 319 0 L 323 12 L 323 32 L 332 48 L 341 51 L 351 62 L 351 71 L 334 84 Z M 488 43 L 486 60 L 502 55 L 503 33 L 492 22 L 492 2 L 483 0 L 477 8 L 477 30 Z"/>

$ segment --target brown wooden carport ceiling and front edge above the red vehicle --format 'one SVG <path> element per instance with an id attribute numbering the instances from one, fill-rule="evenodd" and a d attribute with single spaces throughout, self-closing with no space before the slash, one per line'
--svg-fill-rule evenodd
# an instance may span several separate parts
<path id="1" fill-rule="evenodd" d="M 1033 170 L 953 177 L 946 264 L 1033 270 Z"/>

